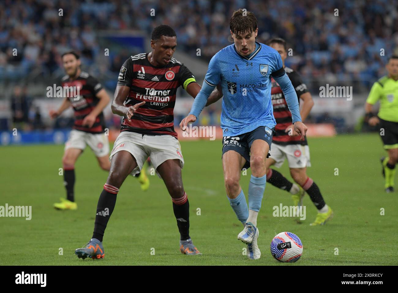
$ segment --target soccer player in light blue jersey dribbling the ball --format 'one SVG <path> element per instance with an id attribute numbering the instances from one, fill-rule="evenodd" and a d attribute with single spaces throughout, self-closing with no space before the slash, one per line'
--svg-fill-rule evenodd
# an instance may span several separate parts
<path id="1" fill-rule="evenodd" d="M 234 44 L 211 59 L 203 87 L 180 127 L 187 131 L 187 124 L 197 120 L 211 92 L 220 85 L 224 94 L 221 128 L 226 194 L 238 220 L 244 225 L 238 239 L 248 244 L 250 259 L 259 259 L 257 215 L 267 178 L 265 158 L 269 155 L 276 124 L 271 102 L 271 77 L 285 94 L 295 131 L 301 139 L 304 139 L 307 127 L 301 122 L 297 94 L 283 69 L 281 56 L 275 49 L 256 42 L 258 25 L 254 14 L 242 9 L 235 11 L 230 20 L 230 32 Z M 249 206 L 239 185 L 240 170 L 245 164 L 252 168 Z"/>

